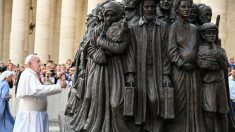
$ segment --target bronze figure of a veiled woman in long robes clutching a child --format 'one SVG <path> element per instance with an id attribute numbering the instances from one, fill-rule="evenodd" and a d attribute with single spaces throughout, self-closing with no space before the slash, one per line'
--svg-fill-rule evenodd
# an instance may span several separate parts
<path id="1" fill-rule="evenodd" d="M 122 104 L 129 30 L 122 7 L 115 1 L 103 5 L 104 22 L 91 36 L 87 53 L 87 82 L 84 99 L 73 129 L 91 132 L 128 132 Z M 125 57 L 126 58 L 126 57 Z"/>

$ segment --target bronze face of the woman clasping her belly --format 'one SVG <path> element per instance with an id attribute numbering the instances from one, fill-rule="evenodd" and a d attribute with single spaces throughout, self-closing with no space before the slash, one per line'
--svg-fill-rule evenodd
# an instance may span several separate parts
<path id="1" fill-rule="evenodd" d="M 178 8 L 178 14 L 181 17 L 188 18 L 191 12 L 191 3 L 189 1 L 181 1 L 180 6 Z"/>

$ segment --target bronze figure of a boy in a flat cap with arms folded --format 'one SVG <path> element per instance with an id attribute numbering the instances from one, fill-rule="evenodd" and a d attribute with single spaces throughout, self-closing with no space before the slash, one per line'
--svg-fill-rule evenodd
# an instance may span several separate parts
<path id="1" fill-rule="evenodd" d="M 216 45 L 218 28 L 213 23 L 200 26 L 201 43 L 198 65 L 202 76 L 202 109 L 206 132 L 228 132 L 229 104 L 224 71 L 228 60 L 223 48 Z"/>

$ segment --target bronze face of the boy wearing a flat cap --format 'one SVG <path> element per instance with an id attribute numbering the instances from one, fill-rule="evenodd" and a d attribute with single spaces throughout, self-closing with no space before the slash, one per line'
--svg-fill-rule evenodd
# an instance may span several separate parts
<path id="1" fill-rule="evenodd" d="M 216 29 L 206 29 L 203 32 L 203 38 L 206 40 L 206 42 L 209 42 L 209 43 L 215 42 L 216 35 L 217 35 Z"/>

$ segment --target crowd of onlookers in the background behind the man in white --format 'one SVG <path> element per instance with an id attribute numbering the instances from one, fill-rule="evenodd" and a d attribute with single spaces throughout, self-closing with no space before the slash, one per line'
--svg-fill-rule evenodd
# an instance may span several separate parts
<path id="1" fill-rule="evenodd" d="M 72 67 L 71 59 L 67 59 L 64 64 L 55 64 L 54 61 L 48 60 L 47 63 L 40 67 L 40 81 L 44 85 L 58 84 L 61 81 L 65 81 L 68 87 L 72 86 L 73 76 L 75 73 L 75 67 Z M 17 87 L 20 74 L 24 71 L 25 64 L 13 64 L 11 60 L 7 64 L 0 62 L 0 75 L 4 71 L 13 71 L 14 85 Z"/>

